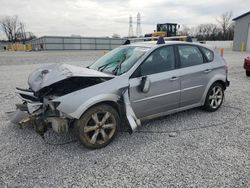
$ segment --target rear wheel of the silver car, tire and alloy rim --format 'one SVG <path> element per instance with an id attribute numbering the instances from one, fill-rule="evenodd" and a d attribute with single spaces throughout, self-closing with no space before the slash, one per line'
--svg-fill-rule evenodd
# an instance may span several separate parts
<path id="1" fill-rule="evenodd" d="M 208 90 L 203 109 L 214 112 L 220 108 L 224 100 L 224 89 L 222 84 L 216 82 Z"/>

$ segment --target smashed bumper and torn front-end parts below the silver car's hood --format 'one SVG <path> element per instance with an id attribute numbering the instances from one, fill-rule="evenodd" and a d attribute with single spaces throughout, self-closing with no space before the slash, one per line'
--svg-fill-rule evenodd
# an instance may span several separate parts
<path id="1" fill-rule="evenodd" d="M 16 105 L 12 123 L 19 124 L 20 127 L 32 125 L 41 136 L 50 127 L 57 133 L 68 131 L 72 119 L 56 109 L 59 103 L 53 102 L 52 96 L 39 98 L 31 89 L 21 88 L 16 88 L 16 93 L 22 103 Z"/>

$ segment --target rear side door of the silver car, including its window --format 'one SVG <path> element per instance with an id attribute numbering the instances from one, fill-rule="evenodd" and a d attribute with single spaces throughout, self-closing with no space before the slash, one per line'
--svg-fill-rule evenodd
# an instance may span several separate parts
<path id="1" fill-rule="evenodd" d="M 211 63 L 196 45 L 178 45 L 181 102 L 180 107 L 201 103 L 212 74 Z"/>

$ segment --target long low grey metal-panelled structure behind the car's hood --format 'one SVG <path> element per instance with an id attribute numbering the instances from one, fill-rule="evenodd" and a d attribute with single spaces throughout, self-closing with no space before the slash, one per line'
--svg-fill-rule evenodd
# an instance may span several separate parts
<path id="1" fill-rule="evenodd" d="M 126 39 L 96 37 L 43 36 L 26 42 L 32 50 L 111 50 L 122 45 Z"/>

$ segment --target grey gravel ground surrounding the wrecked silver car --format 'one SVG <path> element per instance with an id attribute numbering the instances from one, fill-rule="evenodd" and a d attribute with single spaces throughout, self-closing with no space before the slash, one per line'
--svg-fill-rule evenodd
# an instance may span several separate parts
<path id="1" fill-rule="evenodd" d="M 225 51 L 231 86 L 220 110 L 193 109 L 120 132 L 106 148 L 85 149 L 72 133 L 49 131 L 43 141 L 32 128 L 9 123 L 41 63 L 87 65 L 102 51 L 0 53 L 0 187 L 250 187 L 250 78 L 247 53 Z M 73 63 L 74 62 L 74 63 Z M 53 145 L 54 144 L 54 145 Z"/>

